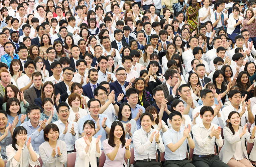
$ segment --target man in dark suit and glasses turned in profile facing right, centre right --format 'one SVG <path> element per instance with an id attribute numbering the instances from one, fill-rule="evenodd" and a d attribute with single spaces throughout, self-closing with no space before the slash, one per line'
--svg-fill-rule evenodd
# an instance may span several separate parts
<path id="1" fill-rule="evenodd" d="M 167 98 L 167 104 L 170 105 L 174 99 L 178 99 L 178 88 L 176 86 L 178 82 L 178 72 L 176 70 L 168 69 L 164 73 L 166 82 L 160 84 L 163 89 L 164 97 Z"/>

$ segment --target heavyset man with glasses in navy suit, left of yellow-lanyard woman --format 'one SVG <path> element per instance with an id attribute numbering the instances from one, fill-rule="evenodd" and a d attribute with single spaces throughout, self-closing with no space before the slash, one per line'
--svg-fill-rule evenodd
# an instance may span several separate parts
<path id="1" fill-rule="evenodd" d="M 115 91 L 116 96 L 123 93 L 124 97 L 126 97 L 126 91 L 132 87 L 132 83 L 126 82 L 127 74 L 124 68 L 119 67 L 116 70 L 116 81 L 109 84 L 110 92 L 112 90 Z M 124 102 L 124 98 L 121 100 Z"/>

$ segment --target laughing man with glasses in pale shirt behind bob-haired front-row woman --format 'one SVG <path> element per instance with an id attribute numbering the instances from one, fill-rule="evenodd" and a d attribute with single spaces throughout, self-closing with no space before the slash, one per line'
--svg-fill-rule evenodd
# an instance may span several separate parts
<path id="1" fill-rule="evenodd" d="M 57 107 L 57 115 L 59 120 L 53 122 L 59 128 L 59 140 L 65 141 L 67 152 L 74 152 L 74 144 L 78 139 L 77 122 L 69 121 L 70 108 L 66 102 L 60 102 Z"/>

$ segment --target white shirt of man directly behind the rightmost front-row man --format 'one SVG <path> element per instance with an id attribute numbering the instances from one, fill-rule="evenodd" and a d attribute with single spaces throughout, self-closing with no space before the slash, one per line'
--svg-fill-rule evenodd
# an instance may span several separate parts
<path id="1" fill-rule="evenodd" d="M 192 111 L 192 116 L 194 118 L 194 115 L 197 114 L 197 112 L 200 113 L 200 109 L 204 106 L 200 105 L 199 107 L 196 107 L 195 109 L 193 109 Z M 216 107 L 215 105 L 211 106 L 213 109 Z M 233 110 L 232 110 L 233 111 Z M 221 110 L 219 111 L 221 113 Z M 196 118 L 196 123 L 199 124 L 203 122 L 202 118 L 200 117 L 200 115 L 198 115 L 198 117 Z M 221 117 L 217 117 L 217 115 L 213 118 L 212 123 L 219 125 L 221 128 L 224 128 L 224 126 L 226 125 L 225 120 L 224 120 L 224 116 L 221 114 Z"/>

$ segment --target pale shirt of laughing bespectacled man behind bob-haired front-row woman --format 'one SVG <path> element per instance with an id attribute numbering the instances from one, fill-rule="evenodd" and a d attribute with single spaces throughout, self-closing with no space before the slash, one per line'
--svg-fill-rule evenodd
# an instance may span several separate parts
<path id="1" fill-rule="evenodd" d="M 72 151 L 74 150 L 74 144 L 76 142 L 76 140 L 78 139 L 78 124 L 77 122 L 73 122 L 73 121 L 68 121 L 69 125 L 68 125 L 68 132 L 66 134 L 63 134 L 63 131 L 65 130 L 65 124 L 61 122 L 61 120 L 59 119 L 56 122 L 53 122 L 55 125 L 58 126 L 59 128 L 59 140 L 62 140 L 66 143 L 67 145 L 67 151 Z M 72 126 L 74 124 L 74 130 L 76 132 L 76 135 L 73 136 L 70 132 Z"/>

